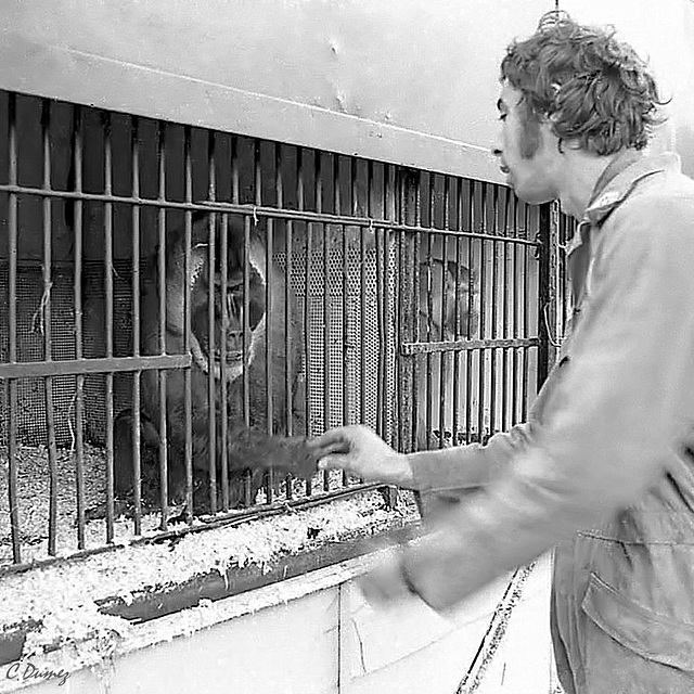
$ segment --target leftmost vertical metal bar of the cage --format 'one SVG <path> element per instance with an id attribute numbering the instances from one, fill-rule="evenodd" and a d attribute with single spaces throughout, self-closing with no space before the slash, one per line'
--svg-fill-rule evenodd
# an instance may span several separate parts
<path id="1" fill-rule="evenodd" d="M 17 123 L 16 95 L 8 94 L 8 140 L 9 140 L 9 183 L 17 184 Z M 9 308 L 9 358 L 11 363 L 17 361 L 17 196 L 9 195 L 8 210 L 8 308 Z M 8 388 L 8 497 L 10 502 L 10 527 L 12 530 L 12 560 L 22 562 L 22 540 L 20 525 L 20 500 L 17 494 L 17 382 L 11 378 Z"/>

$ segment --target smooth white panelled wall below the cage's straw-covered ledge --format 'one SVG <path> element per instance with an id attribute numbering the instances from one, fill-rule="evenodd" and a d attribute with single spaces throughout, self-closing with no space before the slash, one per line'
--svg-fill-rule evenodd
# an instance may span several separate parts
<path id="1" fill-rule="evenodd" d="M 372 557 L 373 558 L 373 557 Z M 27 694 L 452 694 L 472 663 L 507 577 L 451 619 L 412 601 L 369 607 L 352 579 L 367 557 L 134 627 L 111 657 L 95 644 L 22 661 L 70 672 L 21 685 L 0 668 L 0 692 Z M 549 562 L 530 575 L 477 694 L 550 691 Z M 91 654 L 91 658 L 90 658 Z"/>

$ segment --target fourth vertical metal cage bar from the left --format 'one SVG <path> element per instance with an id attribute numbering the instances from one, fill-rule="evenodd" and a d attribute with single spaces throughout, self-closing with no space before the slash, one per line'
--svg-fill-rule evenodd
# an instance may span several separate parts
<path id="1" fill-rule="evenodd" d="M 113 133 L 111 115 L 102 115 L 104 132 L 104 193 L 113 193 Z M 106 360 L 113 359 L 113 203 L 104 204 L 104 326 Z M 92 365 L 94 360 L 85 362 Z M 114 540 L 114 372 L 106 367 L 106 542 Z"/>

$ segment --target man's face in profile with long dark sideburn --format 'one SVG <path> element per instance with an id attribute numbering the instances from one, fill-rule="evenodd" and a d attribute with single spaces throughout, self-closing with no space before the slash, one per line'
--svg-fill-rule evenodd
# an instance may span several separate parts
<path id="1" fill-rule="evenodd" d="M 526 203 L 547 203 L 557 197 L 556 138 L 545 123 L 526 123 L 522 93 L 503 82 L 497 107 L 500 128 L 493 153 L 499 157 L 506 183 Z"/>

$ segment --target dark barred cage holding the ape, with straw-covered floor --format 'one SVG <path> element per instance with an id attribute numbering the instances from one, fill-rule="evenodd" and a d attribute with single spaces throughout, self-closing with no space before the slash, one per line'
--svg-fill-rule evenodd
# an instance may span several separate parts
<path id="1" fill-rule="evenodd" d="M 14 93 L 0 127 L 0 563 L 369 488 L 316 472 L 331 426 L 525 417 L 549 262 L 506 189 Z"/>

